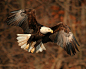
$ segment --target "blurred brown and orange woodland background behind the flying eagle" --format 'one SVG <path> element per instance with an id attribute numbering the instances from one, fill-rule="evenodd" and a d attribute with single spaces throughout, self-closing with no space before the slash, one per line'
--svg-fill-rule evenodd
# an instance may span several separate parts
<path id="1" fill-rule="evenodd" d="M 4 21 L 11 11 L 25 8 L 36 10 L 40 24 L 67 24 L 80 44 L 80 52 L 70 56 L 54 43 L 46 43 L 47 50 L 38 54 L 22 50 L 16 40 L 22 29 L 9 27 Z M 86 69 L 86 0 L 1 0 L 0 69 Z"/>

